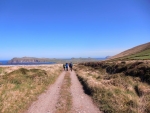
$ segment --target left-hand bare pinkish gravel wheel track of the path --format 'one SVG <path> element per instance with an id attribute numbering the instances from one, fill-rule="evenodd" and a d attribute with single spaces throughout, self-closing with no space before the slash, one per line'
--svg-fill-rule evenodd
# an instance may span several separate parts
<path id="1" fill-rule="evenodd" d="M 55 83 L 45 93 L 42 93 L 25 113 L 54 113 L 65 74 L 66 72 L 62 72 Z"/>

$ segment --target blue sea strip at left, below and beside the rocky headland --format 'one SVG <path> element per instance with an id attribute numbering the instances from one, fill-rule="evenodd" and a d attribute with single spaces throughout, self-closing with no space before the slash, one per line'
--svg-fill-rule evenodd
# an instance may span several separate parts
<path id="1" fill-rule="evenodd" d="M 42 64 L 55 64 L 55 62 L 40 62 L 40 63 L 8 63 L 9 60 L 0 60 L 0 65 L 42 65 Z"/>

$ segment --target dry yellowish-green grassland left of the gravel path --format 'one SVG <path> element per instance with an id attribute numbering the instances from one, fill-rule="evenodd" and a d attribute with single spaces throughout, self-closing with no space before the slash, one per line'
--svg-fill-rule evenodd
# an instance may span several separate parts
<path id="1" fill-rule="evenodd" d="M 4 72 L 8 71 L 5 69 Z M 22 113 L 47 86 L 55 82 L 59 74 L 60 66 L 50 66 L 37 69 L 19 67 L 1 75 L 0 113 Z"/>

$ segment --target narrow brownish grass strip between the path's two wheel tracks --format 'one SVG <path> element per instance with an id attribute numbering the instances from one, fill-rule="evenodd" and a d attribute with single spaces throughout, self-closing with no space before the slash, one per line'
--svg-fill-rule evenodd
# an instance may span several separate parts
<path id="1" fill-rule="evenodd" d="M 71 78 L 69 72 L 66 73 L 60 90 L 60 97 L 56 105 L 56 113 L 70 113 L 72 107 L 72 97 L 70 93 Z"/>

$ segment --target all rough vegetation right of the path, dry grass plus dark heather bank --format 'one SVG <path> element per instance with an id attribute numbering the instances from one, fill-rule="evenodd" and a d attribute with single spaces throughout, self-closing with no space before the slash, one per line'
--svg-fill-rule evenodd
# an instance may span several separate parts
<path id="1" fill-rule="evenodd" d="M 150 64 L 82 63 L 76 67 L 85 90 L 104 113 L 150 112 Z"/>

